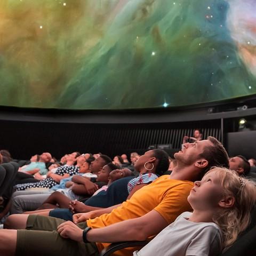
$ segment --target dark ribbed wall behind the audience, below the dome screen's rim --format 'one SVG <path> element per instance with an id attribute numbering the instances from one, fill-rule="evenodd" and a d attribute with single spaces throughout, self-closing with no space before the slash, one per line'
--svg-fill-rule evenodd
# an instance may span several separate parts
<path id="1" fill-rule="evenodd" d="M 184 135 L 193 136 L 195 128 L 204 138 L 221 140 L 220 120 L 159 124 L 81 124 L 0 121 L 0 148 L 9 149 L 14 158 L 50 151 L 60 158 L 71 151 L 108 154 L 140 153 L 149 145 L 169 144 L 180 148 Z"/>

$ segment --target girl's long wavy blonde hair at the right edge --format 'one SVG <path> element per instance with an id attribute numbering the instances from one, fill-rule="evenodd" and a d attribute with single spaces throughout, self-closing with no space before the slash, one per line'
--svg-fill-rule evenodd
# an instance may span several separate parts
<path id="1" fill-rule="evenodd" d="M 251 221 L 251 210 L 256 201 L 256 184 L 239 177 L 235 171 L 222 167 L 213 167 L 209 172 L 217 172 L 221 179 L 224 196 L 234 196 L 232 207 L 216 214 L 213 221 L 220 227 L 223 237 L 223 249 L 236 241 L 239 233 L 244 231 Z"/>

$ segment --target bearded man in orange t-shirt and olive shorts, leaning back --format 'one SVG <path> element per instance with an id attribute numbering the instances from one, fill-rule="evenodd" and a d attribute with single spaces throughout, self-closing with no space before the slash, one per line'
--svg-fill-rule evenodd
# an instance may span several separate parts
<path id="1" fill-rule="evenodd" d="M 97 255 L 108 243 L 143 241 L 158 234 L 180 213 L 191 209 L 187 196 L 193 181 L 201 179 L 211 166 L 228 166 L 226 150 L 213 137 L 187 143 L 174 156 L 177 166 L 170 176 L 164 175 L 141 188 L 109 214 L 94 219 L 87 219 L 90 213 L 75 214 L 74 222 L 78 225 L 55 218 L 18 215 L 16 226 L 30 230 L 0 230 L 1 241 L 9 244 L 0 244 L 0 254 Z M 52 231 L 56 229 L 59 234 Z M 11 245 L 16 250 L 10 249 Z M 116 255 L 131 255 L 131 250 Z"/>

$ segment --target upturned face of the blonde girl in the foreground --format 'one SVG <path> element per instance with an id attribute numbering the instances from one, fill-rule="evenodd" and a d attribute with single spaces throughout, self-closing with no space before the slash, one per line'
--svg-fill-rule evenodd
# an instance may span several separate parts
<path id="1" fill-rule="evenodd" d="M 202 181 L 196 181 L 190 191 L 188 202 L 194 210 L 214 210 L 219 207 L 223 197 L 223 188 L 217 172 L 204 175 Z"/>

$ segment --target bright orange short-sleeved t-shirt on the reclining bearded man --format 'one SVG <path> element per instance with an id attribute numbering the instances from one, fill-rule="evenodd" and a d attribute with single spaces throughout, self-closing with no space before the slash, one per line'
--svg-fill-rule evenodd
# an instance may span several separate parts
<path id="1" fill-rule="evenodd" d="M 120 221 L 139 218 L 152 210 L 161 214 L 169 225 L 182 212 L 192 210 L 187 197 L 193 186 L 194 183 L 191 181 L 172 180 L 170 175 L 163 175 L 137 190 L 129 200 L 123 202 L 111 213 L 87 220 L 87 226 L 103 228 Z M 97 243 L 99 251 L 108 245 Z M 132 255 L 131 251 L 132 249 L 125 249 L 114 255 Z"/>

